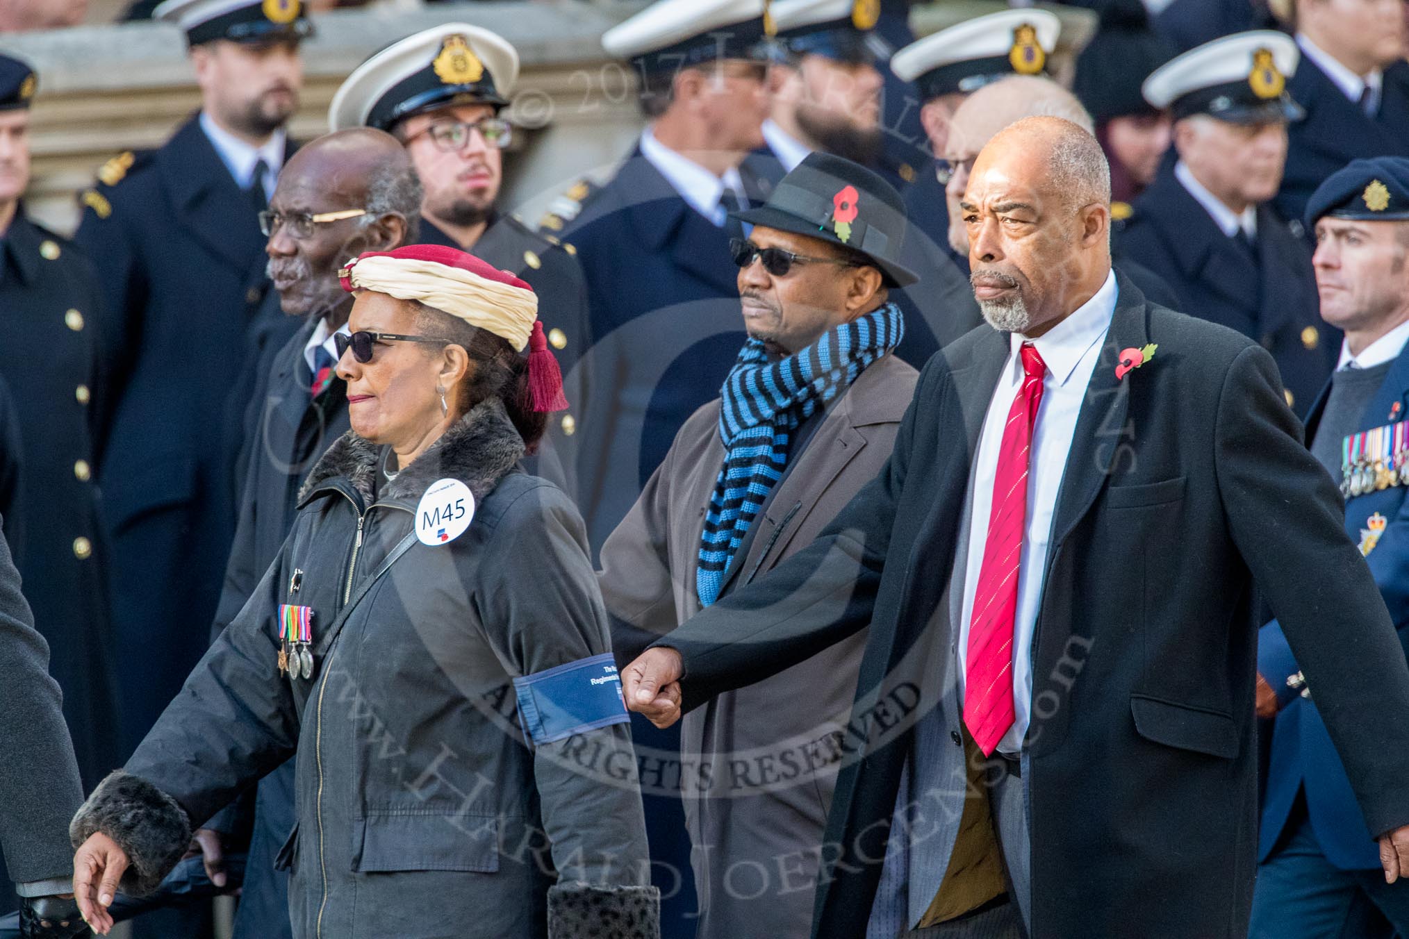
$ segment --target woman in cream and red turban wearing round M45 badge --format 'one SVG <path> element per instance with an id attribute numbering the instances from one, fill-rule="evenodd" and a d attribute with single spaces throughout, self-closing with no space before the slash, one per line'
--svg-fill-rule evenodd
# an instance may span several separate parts
<path id="1" fill-rule="evenodd" d="M 566 405 L 524 282 L 451 248 L 348 262 L 352 431 L 283 552 L 79 811 L 99 932 L 297 755 L 293 935 L 655 939 L 630 725 L 582 521 L 519 460 Z"/>

